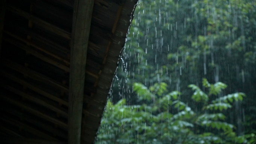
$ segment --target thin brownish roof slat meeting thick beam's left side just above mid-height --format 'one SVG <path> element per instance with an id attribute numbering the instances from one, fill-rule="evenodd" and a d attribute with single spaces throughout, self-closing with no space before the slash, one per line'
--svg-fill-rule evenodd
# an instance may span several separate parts
<path id="1" fill-rule="evenodd" d="M 18 39 L 18 40 L 24 42 L 24 43 L 27 43 L 27 44 L 30 45 L 30 46 L 33 46 L 34 48 L 36 48 L 36 49 L 38 49 L 38 50 L 40 50 L 40 51 L 46 53 L 47 55 L 50 55 L 50 56 L 52 56 L 52 57 L 54 57 L 54 58 L 56 58 L 56 59 L 58 59 L 58 60 L 60 60 L 60 61 L 62 61 L 62 62 L 65 62 L 66 64 L 69 64 L 69 61 L 68 61 L 67 59 L 61 58 L 61 56 L 55 55 L 55 54 L 53 54 L 53 53 L 51 53 L 51 52 L 45 50 L 44 48 L 41 48 L 41 47 L 38 46 L 36 43 L 30 42 L 30 41 L 27 40 L 27 39 L 23 39 L 23 38 L 21 38 L 21 37 L 19 37 L 19 36 L 16 36 L 15 34 L 12 34 L 12 33 L 8 32 L 8 31 L 5 31 L 5 30 L 4 30 L 4 33 L 9 34 L 10 36 L 12 36 L 12 37 L 14 37 L 14 38 L 16 38 L 16 39 Z"/>

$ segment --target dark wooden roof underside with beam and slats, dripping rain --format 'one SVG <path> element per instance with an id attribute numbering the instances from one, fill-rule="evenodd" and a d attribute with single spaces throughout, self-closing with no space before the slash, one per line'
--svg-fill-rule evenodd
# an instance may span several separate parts
<path id="1" fill-rule="evenodd" d="M 0 0 L 0 143 L 94 143 L 137 0 Z"/>

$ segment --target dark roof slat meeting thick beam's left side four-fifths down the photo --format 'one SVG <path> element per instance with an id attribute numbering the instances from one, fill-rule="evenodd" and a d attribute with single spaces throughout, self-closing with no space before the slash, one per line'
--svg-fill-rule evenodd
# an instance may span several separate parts
<path id="1" fill-rule="evenodd" d="M 37 104 L 43 105 L 46 108 L 49 108 L 52 111 L 58 112 L 60 114 L 62 114 L 63 116 L 68 116 L 67 112 L 65 112 L 64 110 L 61 110 L 60 108 L 57 108 L 51 104 L 49 104 L 49 102 L 47 101 L 43 101 L 42 99 L 36 98 L 36 96 L 32 96 L 31 94 L 27 94 L 25 92 L 19 91 L 18 89 L 13 88 L 12 86 L 0 83 L 1 87 L 8 89 L 9 91 L 22 96 L 22 98 L 26 98 L 30 101 L 36 102 Z"/>

